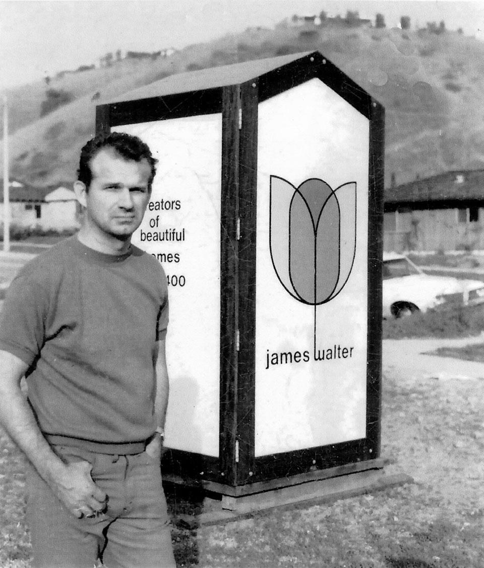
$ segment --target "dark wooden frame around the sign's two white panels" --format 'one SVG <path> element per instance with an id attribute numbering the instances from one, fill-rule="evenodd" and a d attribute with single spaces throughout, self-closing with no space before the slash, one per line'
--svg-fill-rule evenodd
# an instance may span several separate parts
<path id="1" fill-rule="evenodd" d="M 258 103 L 312 78 L 336 90 L 370 124 L 367 430 L 361 440 L 254 457 Z M 314 52 L 237 85 L 100 105 L 96 108 L 96 131 L 110 131 L 120 124 L 219 112 L 222 114 L 220 453 L 214 458 L 167 450 L 162 463 L 165 477 L 235 495 L 250 492 L 251 487 L 279 487 L 281 479 L 287 485 L 300 483 L 317 476 L 315 471 L 321 472 L 319 477 L 326 477 L 324 471 L 342 474 L 355 468 L 371 469 L 380 456 L 384 108 L 321 53 Z"/>

